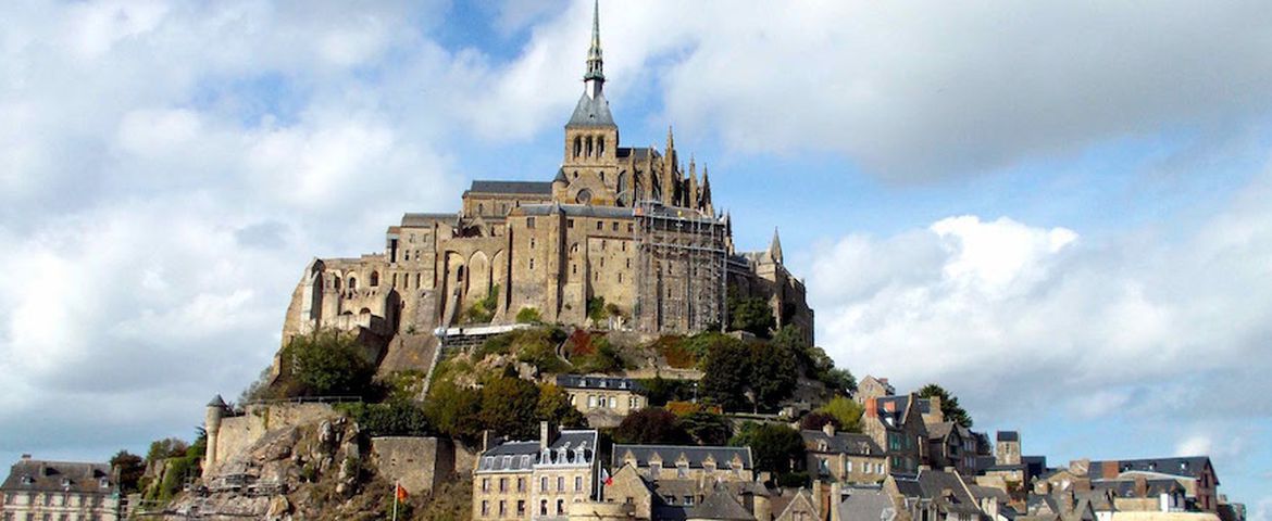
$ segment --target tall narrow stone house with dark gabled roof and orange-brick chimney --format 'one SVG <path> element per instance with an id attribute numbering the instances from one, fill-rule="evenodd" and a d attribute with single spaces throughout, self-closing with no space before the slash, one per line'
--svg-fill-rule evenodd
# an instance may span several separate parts
<path id="1" fill-rule="evenodd" d="M 861 431 L 888 456 L 890 473 L 913 474 L 927 459 L 923 414 L 931 404 L 917 394 L 870 398 L 861 416 Z"/>

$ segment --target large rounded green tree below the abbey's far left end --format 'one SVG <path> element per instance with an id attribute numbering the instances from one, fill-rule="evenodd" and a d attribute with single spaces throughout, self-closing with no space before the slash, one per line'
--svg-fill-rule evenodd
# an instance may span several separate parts
<path id="1" fill-rule="evenodd" d="M 287 396 L 361 396 L 371 390 L 375 366 L 352 334 L 321 330 L 298 335 L 282 352 L 290 366 Z"/>

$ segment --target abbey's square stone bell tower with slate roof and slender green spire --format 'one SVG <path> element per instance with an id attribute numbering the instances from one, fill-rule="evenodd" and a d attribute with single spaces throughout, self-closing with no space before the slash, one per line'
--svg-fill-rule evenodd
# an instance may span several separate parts
<path id="1" fill-rule="evenodd" d="M 604 58 L 600 51 L 600 6 L 591 13 L 584 90 L 565 126 L 566 200 L 563 203 L 614 205 L 618 191 L 618 126 L 605 100 Z"/>

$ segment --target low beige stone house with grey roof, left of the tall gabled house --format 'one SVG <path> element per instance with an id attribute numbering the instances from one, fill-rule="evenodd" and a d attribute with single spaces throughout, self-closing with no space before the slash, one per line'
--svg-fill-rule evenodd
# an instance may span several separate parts
<path id="1" fill-rule="evenodd" d="M 800 431 L 808 454 L 808 471 L 841 483 L 879 483 L 888 475 L 888 456 L 870 436 L 836 432 L 833 423 L 820 431 Z"/>

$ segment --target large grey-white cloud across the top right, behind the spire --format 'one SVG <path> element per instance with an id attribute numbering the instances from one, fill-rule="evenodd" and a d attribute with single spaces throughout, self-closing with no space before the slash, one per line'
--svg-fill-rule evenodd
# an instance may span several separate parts
<path id="1" fill-rule="evenodd" d="M 509 1 L 510 19 L 538 13 Z M 560 125 L 590 9 L 536 25 L 474 109 Z M 1072 156 L 1163 128 L 1216 146 L 1272 107 L 1272 13 L 1258 1 L 602 3 L 609 86 L 740 152 L 831 151 L 894 180 Z M 1198 28 L 1205 28 L 1199 30 Z M 566 91 L 576 91 L 576 89 Z M 614 99 L 614 97 L 612 97 Z M 665 123 L 661 123 L 665 125 Z M 491 128 L 491 132 L 495 130 Z"/>

